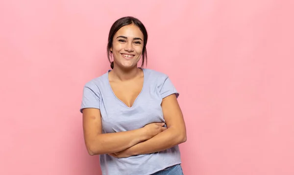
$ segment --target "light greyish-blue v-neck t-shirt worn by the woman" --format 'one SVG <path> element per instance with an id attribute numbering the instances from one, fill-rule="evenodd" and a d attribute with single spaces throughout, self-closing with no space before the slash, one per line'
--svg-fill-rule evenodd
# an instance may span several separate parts
<path id="1" fill-rule="evenodd" d="M 102 133 L 136 130 L 149 123 L 165 122 L 162 99 L 171 94 L 179 95 L 166 74 L 143 68 L 143 88 L 130 108 L 113 93 L 109 71 L 86 83 L 80 109 L 80 112 L 84 108 L 100 109 Z M 150 175 L 181 163 L 178 145 L 162 152 L 127 158 L 108 154 L 101 154 L 99 158 L 102 175 Z"/>

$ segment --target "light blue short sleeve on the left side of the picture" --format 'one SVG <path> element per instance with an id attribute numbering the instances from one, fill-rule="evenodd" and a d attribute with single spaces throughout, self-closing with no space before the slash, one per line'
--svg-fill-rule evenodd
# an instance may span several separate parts
<path id="1" fill-rule="evenodd" d="M 83 113 L 83 109 L 85 108 L 100 109 L 100 92 L 96 85 L 88 83 L 83 88 L 80 112 Z"/>

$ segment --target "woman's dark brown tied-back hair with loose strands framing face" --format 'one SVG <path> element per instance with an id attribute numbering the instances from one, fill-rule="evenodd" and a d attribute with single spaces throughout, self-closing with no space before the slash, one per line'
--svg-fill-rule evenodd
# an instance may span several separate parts
<path id="1" fill-rule="evenodd" d="M 108 44 L 107 44 L 107 58 L 109 60 L 110 67 L 113 69 L 113 62 L 110 61 L 110 55 L 112 54 L 112 52 L 110 51 L 110 48 L 112 47 L 112 42 L 113 42 L 113 37 L 115 35 L 115 33 L 122 28 L 125 25 L 130 25 L 130 24 L 134 24 L 137 27 L 140 28 L 141 32 L 144 35 L 144 42 L 143 42 L 143 50 L 142 50 L 142 65 L 141 68 L 144 66 L 145 60 L 147 63 L 147 50 L 146 50 L 146 44 L 147 44 L 147 30 L 145 28 L 145 26 L 143 25 L 143 23 L 138 20 L 137 18 L 134 17 L 123 17 L 118 19 L 116 22 L 114 22 L 110 28 L 109 31 L 109 35 L 108 35 Z"/>

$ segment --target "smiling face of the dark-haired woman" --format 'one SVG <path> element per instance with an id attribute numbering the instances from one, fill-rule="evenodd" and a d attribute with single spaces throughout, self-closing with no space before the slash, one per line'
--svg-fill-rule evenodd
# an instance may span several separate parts
<path id="1" fill-rule="evenodd" d="M 120 28 L 113 37 L 112 51 L 115 65 L 124 68 L 137 67 L 142 56 L 144 35 L 134 24 Z"/>

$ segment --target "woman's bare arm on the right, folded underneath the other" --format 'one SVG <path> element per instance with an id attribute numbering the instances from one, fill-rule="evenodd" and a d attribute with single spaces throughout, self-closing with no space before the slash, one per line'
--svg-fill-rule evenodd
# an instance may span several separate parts
<path id="1" fill-rule="evenodd" d="M 186 126 L 175 94 L 165 97 L 162 100 L 161 107 L 167 130 L 122 152 L 110 155 L 122 158 L 138 154 L 155 153 L 185 142 L 187 140 Z"/>

